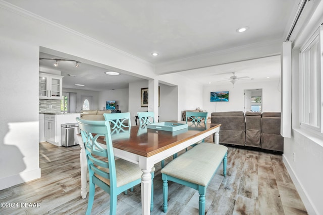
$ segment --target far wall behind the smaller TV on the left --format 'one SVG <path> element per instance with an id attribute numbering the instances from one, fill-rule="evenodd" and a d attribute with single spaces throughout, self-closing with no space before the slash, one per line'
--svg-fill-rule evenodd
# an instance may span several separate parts
<path id="1" fill-rule="evenodd" d="M 139 94 L 140 95 L 140 94 Z M 128 112 L 129 109 L 129 89 L 106 90 L 99 92 L 98 108 L 100 110 L 106 106 L 106 101 L 116 101 L 121 112 Z"/>

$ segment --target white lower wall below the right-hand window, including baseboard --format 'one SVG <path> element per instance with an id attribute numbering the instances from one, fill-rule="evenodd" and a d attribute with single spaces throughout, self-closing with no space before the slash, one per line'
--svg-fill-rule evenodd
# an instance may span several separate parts
<path id="1" fill-rule="evenodd" d="M 283 161 L 308 214 L 323 214 L 322 138 L 293 129 L 291 138 L 284 138 Z"/>

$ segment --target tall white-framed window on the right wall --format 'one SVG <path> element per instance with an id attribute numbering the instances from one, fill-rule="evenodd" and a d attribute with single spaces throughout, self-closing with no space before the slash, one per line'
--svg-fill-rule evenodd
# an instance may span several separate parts
<path id="1" fill-rule="evenodd" d="M 315 130 L 321 129 L 320 43 L 323 41 L 322 36 L 319 30 L 316 31 L 300 51 L 300 122 L 302 126 Z"/>

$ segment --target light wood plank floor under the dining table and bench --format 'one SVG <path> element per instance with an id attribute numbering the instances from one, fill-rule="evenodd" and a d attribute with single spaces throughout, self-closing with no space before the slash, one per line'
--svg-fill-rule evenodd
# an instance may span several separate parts
<path id="1" fill-rule="evenodd" d="M 228 148 L 227 176 L 219 168 L 208 186 L 206 214 L 307 214 L 281 155 Z M 0 214 L 84 214 L 87 198 L 80 197 L 79 153 L 79 146 L 40 143 L 41 178 L 0 190 L 0 202 L 19 203 L 18 208 L 0 207 Z M 160 164 L 155 168 L 151 214 L 165 214 Z M 118 197 L 118 214 L 141 214 L 140 185 Z M 92 214 L 109 214 L 108 194 L 97 188 L 94 201 Z M 40 207 L 21 207 L 24 202 Z M 167 214 L 198 214 L 198 192 L 169 182 Z"/>

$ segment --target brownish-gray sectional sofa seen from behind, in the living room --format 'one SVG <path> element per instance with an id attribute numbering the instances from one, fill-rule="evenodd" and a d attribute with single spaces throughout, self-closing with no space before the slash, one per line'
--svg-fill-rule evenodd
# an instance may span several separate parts
<path id="1" fill-rule="evenodd" d="M 280 112 L 228 111 L 211 113 L 211 124 L 222 124 L 220 143 L 283 152 Z"/>

